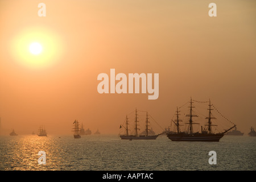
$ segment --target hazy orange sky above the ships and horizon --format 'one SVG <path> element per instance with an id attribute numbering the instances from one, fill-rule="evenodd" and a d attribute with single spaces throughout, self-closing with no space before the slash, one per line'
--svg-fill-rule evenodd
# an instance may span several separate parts
<path id="1" fill-rule="evenodd" d="M 0 1 L 1 134 L 72 135 L 75 119 L 118 134 L 135 107 L 168 127 L 190 97 L 210 98 L 246 134 L 256 127 L 256 1 L 43 1 L 39 17 L 40 2 Z M 36 38 L 40 64 L 26 53 Z M 99 94 L 110 68 L 159 73 L 159 98 Z"/>

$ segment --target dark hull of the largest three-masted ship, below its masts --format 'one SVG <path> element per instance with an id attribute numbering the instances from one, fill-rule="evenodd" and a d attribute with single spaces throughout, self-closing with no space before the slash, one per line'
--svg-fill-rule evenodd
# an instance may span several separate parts
<path id="1" fill-rule="evenodd" d="M 224 134 L 167 134 L 172 141 L 219 142 Z"/>

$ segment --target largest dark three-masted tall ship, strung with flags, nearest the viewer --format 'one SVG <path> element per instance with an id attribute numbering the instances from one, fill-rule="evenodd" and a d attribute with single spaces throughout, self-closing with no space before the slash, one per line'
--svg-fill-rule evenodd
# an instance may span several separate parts
<path id="1" fill-rule="evenodd" d="M 180 126 L 182 126 L 182 125 L 180 125 L 180 122 L 182 122 L 182 121 L 179 118 L 179 115 L 181 115 L 181 114 L 179 114 L 180 111 L 177 108 L 176 119 L 175 119 L 175 121 L 172 120 L 172 122 L 174 122 L 174 124 L 177 128 L 177 131 L 176 132 L 173 132 L 173 131 L 167 132 L 167 137 L 169 139 L 171 139 L 172 141 L 219 142 L 219 140 L 224 136 L 225 133 L 227 133 L 229 130 L 233 129 L 233 127 L 236 127 L 236 125 L 234 125 L 234 126 L 230 127 L 229 129 L 224 130 L 222 132 L 213 133 L 212 126 L 217 126 L 217 125 L 213 125 L 213 123 L 212 123 L 212 120 L 216 119 L 216 118 L 213 117 L 213 115 L 212 115 L 212 110 L 213 110 L 212 106 L 213 105 L 210 104 L 210 100 L 209 100 L 209 105 L 208 105 L 209 112 L 208 112 L 208 116 L 205 117 L 205 119 L 207 119 L 207 124 L 205 125 L 207 127 L 207 129 L 203 129 L 203 126 L 201 126 L 201 133 L 193 132 L 193 125 L 195 125 L 195 124 L 199 125 L 199 123 L 193 122 L 193 118 L 198 117 L 198 115 L 193 113 L 192 108 L 194 106 L 192 105 L 193 104 L 192 98 L 191 98 L 189 104 L 190 104 L 189 114 L 185 115 L 185 117 L 189 118 L 189 122 L 185 123 L 185 124 L 188 124 L 188 131 L 184 132 L 184 131 L 180 130 Z"/>

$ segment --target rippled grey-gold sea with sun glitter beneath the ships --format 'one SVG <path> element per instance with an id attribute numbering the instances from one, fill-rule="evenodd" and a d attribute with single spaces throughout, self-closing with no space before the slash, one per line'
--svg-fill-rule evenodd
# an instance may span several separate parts
<path id="1" fill-rule="evenodd" d="M 0 138 L 0 170 L 256 170 L 256 138 L 224 136 L 220 142 L 121 140 L 117 135 Z M 209 151 L 217 152 L 210 165 Z M 38 152 L 46 164 L 38 164 Z"/>

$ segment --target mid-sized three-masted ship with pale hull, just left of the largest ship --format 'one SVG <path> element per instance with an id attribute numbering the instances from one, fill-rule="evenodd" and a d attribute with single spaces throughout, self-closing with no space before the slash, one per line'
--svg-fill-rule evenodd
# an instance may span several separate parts
<path id="1" fill-rule="evenodd" d="M 158 135 L 150 135 L 149 131 L 149 123 L 150 121 L 148 121 L 148 114 L 146 114 L 146 129 L 145 129 L 145 133 L 144 134 L 139 134 L 139 121 L 138 121 L 138 114 L 137 114 L 137 109 L 135 110 L 135 128 L 134 128 L 134 131 L 135 131 L 135 134 L 131 134 L 131 132 L 129 132 L 130 130 L 128 129 L 128 125 L 129 125 L 129 121 L 128 121 L 128 118 L 127 118 L 127 115 L 126 115 L 126 122 L 125 122 L 125 134 L 123 135 L 119 135 L 119 137 L 121 139 L 129 139 L 129 140 L 133 140 L 133 139 L 156 139 L 160 134 Z M 122 125 L 120 126 L 120 128 L 122 127 Z"/>

